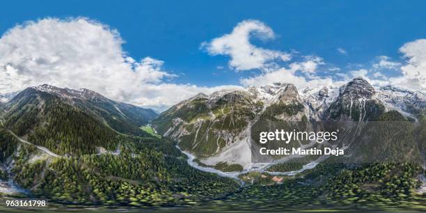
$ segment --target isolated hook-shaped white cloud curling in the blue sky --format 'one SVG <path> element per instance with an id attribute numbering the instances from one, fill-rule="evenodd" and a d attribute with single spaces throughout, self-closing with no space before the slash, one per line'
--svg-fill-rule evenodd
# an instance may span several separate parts
<path id="1" fill-rule="evenodd" d="M 203 42 L 201 48 L 211 55 L 230 56 L 230 68 L 237 71 L 252 69 L 267 69 L 275 60 L 290 61 L 290 54 L 255 47 L 250 42 L 251 36 L 261 40 L 275 37 L 266 24 L 256 20 L 245 20 L 235 26 L 231 33 Z"/>

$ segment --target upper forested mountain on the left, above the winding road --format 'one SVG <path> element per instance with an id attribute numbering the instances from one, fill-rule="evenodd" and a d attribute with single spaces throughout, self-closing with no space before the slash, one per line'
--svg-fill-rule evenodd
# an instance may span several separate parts
<path id="1" fill-rule="evenodd" d="M 59 92 L 27 88 L 17 94 L 3 107 L 4 126 L 58 155 L 95 153 L 97 147 L 116 150 L 125 135 L 149 136 L 139 127 L 154 116 L 153 111 L 116 103 L 87 90 L 82 94 L 90 97 L 64 95 L 68 90 L 56 89 Z M 114 103 L 117 106 L 111 105 Z"/>

